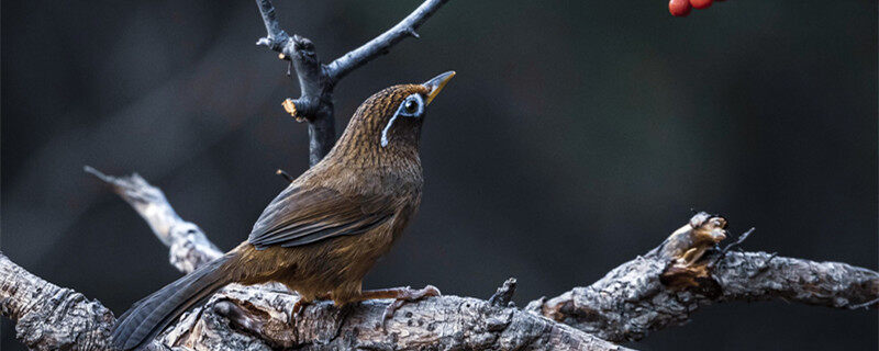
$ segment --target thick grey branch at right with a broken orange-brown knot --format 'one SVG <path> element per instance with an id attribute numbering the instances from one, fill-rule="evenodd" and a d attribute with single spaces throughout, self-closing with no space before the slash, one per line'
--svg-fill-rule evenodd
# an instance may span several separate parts
<path id="1" fill-rule="evenodd" d="M 528 304 L 527 310 L 623 342 L 683 324 L 701 306 L 782 298 L 835 308 L 872 305 L 879 273 L 836 262 L 714 250 L 726 222 L 701 213 L 644 257 L 587 287 Z M 725 253 L 724 253 L 725 252 Z"/>

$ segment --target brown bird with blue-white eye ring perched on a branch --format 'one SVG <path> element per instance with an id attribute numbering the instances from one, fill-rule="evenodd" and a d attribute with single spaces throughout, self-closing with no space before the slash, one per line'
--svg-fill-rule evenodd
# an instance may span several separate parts
<path id="1" fill-rule="evenodd" d="M 453 76 L 393 86 L 367 99 L 330 154 L 263 211 L 247 241 L 135 303 L 113 328 L 114 346 L 145 347 L 185 310 L 233 282 L 279 282 L 297 291 L 302 304 L 394 298 L 386 317 L 407 301 L 439 295 L 430 285 L 360 286 L 418 211 L 424 110 Z"/>

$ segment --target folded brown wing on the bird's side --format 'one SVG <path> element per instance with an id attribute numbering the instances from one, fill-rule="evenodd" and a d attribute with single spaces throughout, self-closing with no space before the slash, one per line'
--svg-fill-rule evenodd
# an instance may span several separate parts
<path id="1" fill-rule="evenodd" d="M 301 246 L 368 231 L 392 215 L 380 199 L 344 196 L 327 188 L 289 186 L 263 211 L 247 241 L 259 250 Z"/>

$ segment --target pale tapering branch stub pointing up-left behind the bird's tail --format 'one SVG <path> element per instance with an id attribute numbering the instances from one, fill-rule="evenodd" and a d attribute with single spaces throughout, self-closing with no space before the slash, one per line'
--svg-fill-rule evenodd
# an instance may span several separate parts
<path id="1" fill-rule="evenodd" d="M 189 273 L 223 256 L 199 226 L 177 215 L 162 190 L 147 183 L 137 173 L 112 177 L 88 166 L 85 170 L 113 186 L 113 191 L 137 211 L 153 234 L 170 248 L 170 262 L 181 272 Z"/>

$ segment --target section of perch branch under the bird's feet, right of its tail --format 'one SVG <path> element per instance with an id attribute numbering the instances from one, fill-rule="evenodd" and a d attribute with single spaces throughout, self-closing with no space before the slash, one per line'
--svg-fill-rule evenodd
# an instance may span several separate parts
<path id="1" fill-rule="evenodd" d="M 383 328 L 380 321 L 388 301 L 343 308 L 320 302 L 290 321 L 297 299 L 285 291 L 233 284 L 183 316 L 162 336 L 163 342 L 203 350 L 627 350 L 514 307 L 471 297 L 405 304 Z"/>

